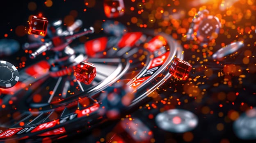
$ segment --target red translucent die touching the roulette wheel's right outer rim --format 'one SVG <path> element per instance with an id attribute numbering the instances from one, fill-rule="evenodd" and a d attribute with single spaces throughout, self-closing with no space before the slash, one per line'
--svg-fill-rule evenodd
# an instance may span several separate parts
<path id="1" fill-rule="evenodd" d="M 185 60 L 175 58 L 169 69 L 169 73 L 175 78 L 186 80 L 191 69 L 192 65 L 190 65 L 190 63 L 186 62 Z"/>

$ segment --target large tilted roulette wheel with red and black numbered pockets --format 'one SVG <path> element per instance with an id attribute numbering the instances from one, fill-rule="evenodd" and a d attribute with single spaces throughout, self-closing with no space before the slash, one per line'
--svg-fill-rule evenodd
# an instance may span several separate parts
<path id="1" fill-rule="evenodd" d="M 55 141 L 108 121 L 108 110 L 115 109 L 122 116 L 171 78 L 168 67 L 174 57 L 183 59 L 181 46 L 164 33 L 133 31 L 120 37 L 93 36 L 96 38 L 73 47 L 96 67 L 90 85 L 76 80 L 73 72 L 51 76 L 50 60 L 41 60 L 19 71 L 20 80 L 14 87 L 1 89 L 6 107 L 0 109 L 0 142 Z M 155 36 L 166 41 L 158 53 L 144 46 Z M 94 52 L 95 45 L 105 48 Z M 110 105 L 106 95 L 115 92 L 130 97 L 130 102 Z M 128 93 L 132 95 L 126 96 Z M 122 99 L 114 101 L 121 103 Z"/>

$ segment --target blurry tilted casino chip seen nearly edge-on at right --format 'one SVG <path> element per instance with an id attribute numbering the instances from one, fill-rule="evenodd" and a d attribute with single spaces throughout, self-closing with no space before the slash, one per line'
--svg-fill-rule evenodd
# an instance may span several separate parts
<path id="1" fill-rule="evenodd" d="M 222 60 L 225 56 L 234 53 L 238 49 L 244 47 L 245 44 L 242 41 L 233 42 L 225 47 L 220 48 L 213 54 L 213 59 Z"/>

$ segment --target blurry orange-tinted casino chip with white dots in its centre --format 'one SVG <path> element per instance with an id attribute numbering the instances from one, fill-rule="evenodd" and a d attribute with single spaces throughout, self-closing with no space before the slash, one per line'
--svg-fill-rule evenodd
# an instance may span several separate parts
<path id="1" fill-rule="evenodd" d="M 187 32 L 187 40 L 197 40 L 200 45 L 208 45 L 219 34 L 221 23 L 216 16 L 208 15 L 208 10 L 199 11 L 193 18 Z"/>

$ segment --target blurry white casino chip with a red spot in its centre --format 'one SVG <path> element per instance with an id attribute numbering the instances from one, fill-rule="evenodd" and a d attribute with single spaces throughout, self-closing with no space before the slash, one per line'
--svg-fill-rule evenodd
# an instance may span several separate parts
<path id="1" fill-rule="evenodd" d="M 198 119 L 195 114 L 187 110 L 169 109 L 159 113 L 155 117 L 155 122 L 162 130 L 183 133 L 193 130 L 198 124 Z"/>

